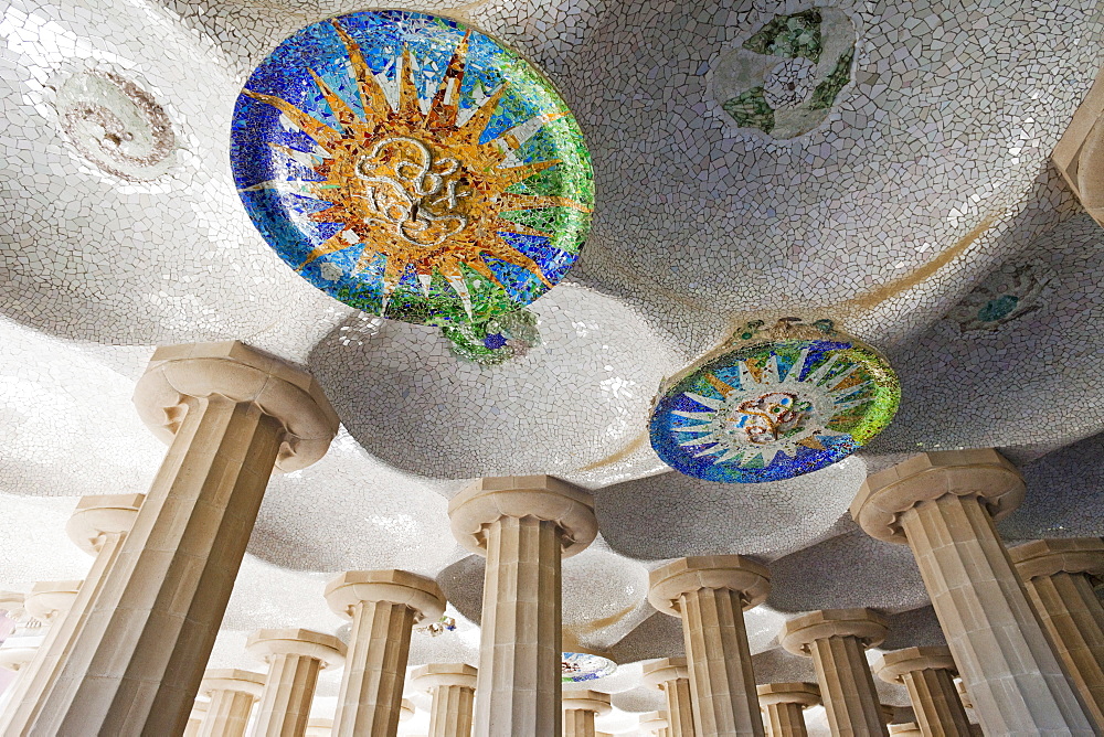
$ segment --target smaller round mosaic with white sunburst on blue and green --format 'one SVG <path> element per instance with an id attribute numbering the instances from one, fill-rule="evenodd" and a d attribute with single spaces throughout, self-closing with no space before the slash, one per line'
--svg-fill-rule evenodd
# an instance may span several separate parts
<path id="1" fill-rule="evenodd" d="M 889 425 L 901 387 L 885 360 L 829 321 L 796 322 L 751 323 L 662 392 L 650 435 L 664 462 L 708 481 L 778 481 L 846 458 Z"/>

